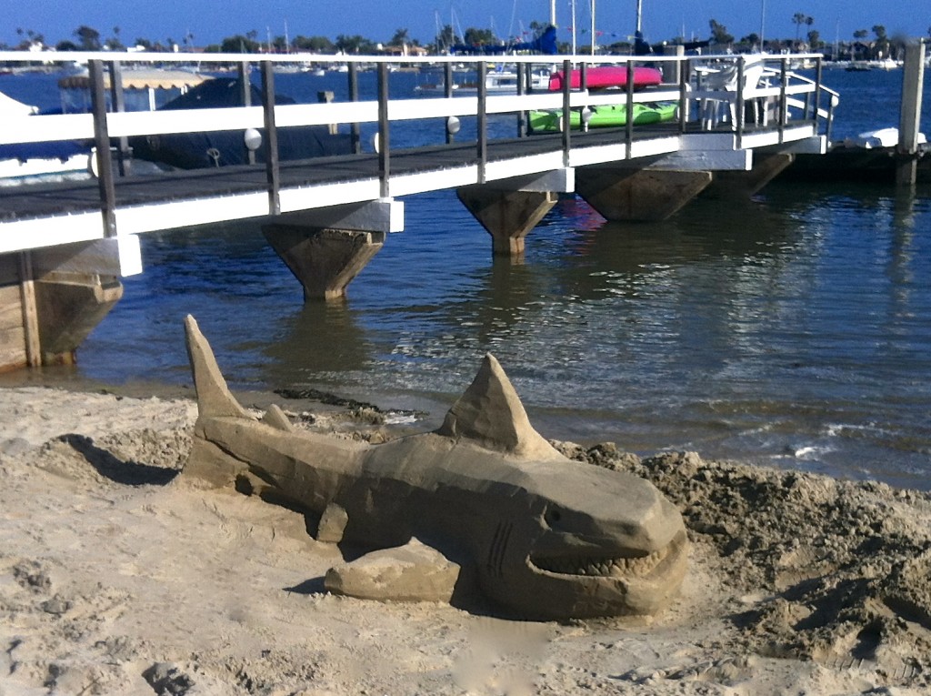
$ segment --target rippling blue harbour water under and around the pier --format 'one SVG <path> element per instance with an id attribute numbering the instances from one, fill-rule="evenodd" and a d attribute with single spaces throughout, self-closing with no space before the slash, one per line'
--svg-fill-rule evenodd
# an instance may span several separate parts
<path id="1" fill-rule="evenodd" d="M 343 79 L 277 85 L 314 101 L 317 89 L 339 98 Z M 392 90 L 417 79 L 392 75 Z M 2 77 L 0 90 L 30 101 L 29 81 Z M 824 81 L 842 95 L 835 138 L 897 125 L 900 71 Z M 776 183 L 648 225 L 607 223 L 565 198 L 520 265 L 492 261 L 491 239 L 451 191 L 405 207 L 405 232 L 345 303 L 304 306 L 254 225 L 143 237 L 145 272 L 124 280 L 75 375 L 188 383 L 192 313 L 236 387 L 425 408 L 429 426 L 492 351 L 549 437 L 931 489 L 926 188 Z"/>

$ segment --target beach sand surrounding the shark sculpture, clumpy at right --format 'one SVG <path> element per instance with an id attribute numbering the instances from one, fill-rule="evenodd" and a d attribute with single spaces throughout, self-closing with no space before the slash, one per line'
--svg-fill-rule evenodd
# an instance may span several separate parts
<path id="1" fill-rule="evenodd" d="M 0 389 L 0 696 L 931 689 L 927 494 L 560 443 L 666 492 L 689 573 L 651 620 L 506 621 L 327 594 L 341 556 L 303 516 L 178 475 L 195 418 L 185 399 Z M 302 420 L 393 435 L 334 407 Z"/>

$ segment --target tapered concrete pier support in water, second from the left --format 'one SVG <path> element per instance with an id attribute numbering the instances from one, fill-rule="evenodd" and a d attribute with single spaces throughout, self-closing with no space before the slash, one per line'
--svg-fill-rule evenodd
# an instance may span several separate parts
<path id="1" fill-rule="evenodd" d="M 265 239 L 304 286 L 304 301 L 342 298 L 346 286 L 385 244 L 381 232 L 265 225 Z"/>

